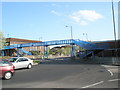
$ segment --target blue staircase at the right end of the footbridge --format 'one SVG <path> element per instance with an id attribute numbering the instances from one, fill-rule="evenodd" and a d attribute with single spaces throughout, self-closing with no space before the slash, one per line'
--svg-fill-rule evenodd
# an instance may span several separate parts
<path id="1" fill-rule="evenodd" d="M 108 44 L 96 44 L 96 43 L 91 43 L 91 42 L 86 42 L 86 41 L 81 41 L 81 40 L 74 40 L 74 43 L 84 49 L 84 52 L 79 52 L 78 56 L 80 58 L 87 58 L 94 56 L 98 54 L 99 52 L 105 50 L 108 48 Z"/>

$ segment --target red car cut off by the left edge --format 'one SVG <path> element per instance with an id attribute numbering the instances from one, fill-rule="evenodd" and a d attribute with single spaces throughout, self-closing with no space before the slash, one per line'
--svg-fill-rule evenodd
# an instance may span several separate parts
<path id="1" fill-rule="evenodd" d="M 9 80 L 14 75 L 14 66 L 8 60 L 0 61 L 0 77 Z"/>

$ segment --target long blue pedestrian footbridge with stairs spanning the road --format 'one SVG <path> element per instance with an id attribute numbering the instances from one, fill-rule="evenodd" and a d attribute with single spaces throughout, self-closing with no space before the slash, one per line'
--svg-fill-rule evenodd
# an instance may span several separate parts
<path id="1" fill-rule="evenodd" d="M 75 48 L 74 45 L 77 45 L 81 48 L 83 48 L 86 52 L 82 55 L 81 57 L 86 57 L 90 54 L 94 54 L 95 51 L 101 51 L 107 48 L 107 46 L 97 46 L 95 43 L 92 42 L 87 42 L 79 39 L 67 39 L 67 40 L 53 40 L 53 41 L 45 41 L 45 42 L 34 42 L 34 43 L 25 43 L 25 44 L 13 44 L 9 46 L 5 46 L 2 49 L 2 55 L 4 56 L 4 50 L 7 49 L 19 49 L 20 52 L 24 52 L 27 55 L 31 55 L 30 52 L 24 51 L 23 47 L 34 47 L 34 46 L 44 46 L 45 47 L 45 52 L 47 52 L 47 47 L 52 46 L 52 45 L 71 45 L 71 56 L 75 55 Z"/>

